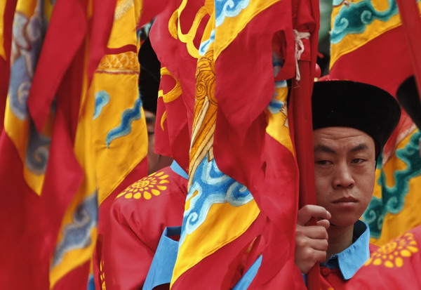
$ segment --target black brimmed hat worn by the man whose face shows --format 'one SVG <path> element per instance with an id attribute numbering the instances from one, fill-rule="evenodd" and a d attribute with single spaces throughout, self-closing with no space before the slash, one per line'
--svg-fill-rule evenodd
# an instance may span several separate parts
<path id="1" fill-rule="evenodd" d="M 312 95 L 313 129 L 356 128 L 373 138 L 376 152 L 389 139 L 401 108 L 387 91 L 356 81 L 316 81 Z"/>

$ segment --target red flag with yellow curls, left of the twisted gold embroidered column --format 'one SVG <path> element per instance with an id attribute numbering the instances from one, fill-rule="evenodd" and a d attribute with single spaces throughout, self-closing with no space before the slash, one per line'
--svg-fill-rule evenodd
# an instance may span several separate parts
<path id="1" fill-rule="evenodd" d="M 155 152 L 171 156 L 183 169 L 189 168 L 190 136 L 193 124 L 194 94 L 196 88 L 195 72 L 197 59 L 187 51 L 186 44 L 174 39 L 168 31 L 168 20 L 173 12 L 180 6 L 180 0 L 168 1 L 166 9 L 156 17 L 149 37 L 152 47 L 161 62 L 162 67 L 167 67 L 175 79 L 180 81 L 182 95 L 170 103 L 163 103 L 159 98 L 156 114 Z M 192 26 L 194 16 L 201 7 L 201 1 L 188 1 L 187 6 L 179 15 L 180 29 L 188 31 Z M 203 34 L 208 16 L 201 21 L 196 35 Z M 194 41 L 199 48 L 200 38 Z M 162 45 L 165 44 L 165 45 Z M 161 79 L 163 92 L 168 92 L 175 85 L 171 77 Z M 164 131 L 161 128 L 161 117 L 166 112 Z"/>

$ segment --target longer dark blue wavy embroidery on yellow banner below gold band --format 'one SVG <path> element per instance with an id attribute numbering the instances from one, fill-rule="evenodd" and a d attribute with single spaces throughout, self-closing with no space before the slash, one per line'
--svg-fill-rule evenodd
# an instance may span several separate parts
<path id="1" fill-rule="evenodd" d="M 139 98 L 135 100 L 135 105 L 121 113 L 121 123 L 119 126 L 112 128 L 107 133 L 107 138 L 105 140 L 107 148 L 109 148 L 109 144 L 112 142 L 112 140 L 131 133 L 131 124 L 133 121 L 138 120 L 141 117 L 140 107 L 142 107 L 142 100 L 140 99 L 139 95 Z"/>

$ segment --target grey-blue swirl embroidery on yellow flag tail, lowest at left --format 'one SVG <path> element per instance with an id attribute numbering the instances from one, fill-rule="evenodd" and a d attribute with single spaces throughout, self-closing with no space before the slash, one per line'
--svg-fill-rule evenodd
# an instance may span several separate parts
<path id="1" fill-rule="evenodd" d="M 83 249 L 91 244 L 91 230 L 98 220 L 98 195 L 95 193 L 84 199 L 73 213 L 72 223 L 66 225 L 62 240 L 55 247 L 51 268 L 58 265 L 65 253 L 74 249 Z"/>

